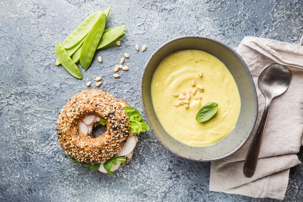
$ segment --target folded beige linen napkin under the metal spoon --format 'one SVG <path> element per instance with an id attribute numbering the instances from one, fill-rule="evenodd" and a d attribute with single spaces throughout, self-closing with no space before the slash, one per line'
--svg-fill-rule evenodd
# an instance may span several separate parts
<path id="1" fill-rule="evenodd" d="M 236 50 L 246 62 L 256 85 L 258 119 L 250 139 L 238 152 L 212 162 L 209 189 L 283 200 L 289 169 L 301 164 L 296 154 L 303 145 L 303 47 L 271 39 L 245 37 Z M 265 106 L 265 97 L 258 88 L 258 76 L 271 63 L 286 65 L 292 80 L 287 92 L 273 99 L 257 170 L 252 178 L 246 178 L 242 172 L 244 159 Z"/>

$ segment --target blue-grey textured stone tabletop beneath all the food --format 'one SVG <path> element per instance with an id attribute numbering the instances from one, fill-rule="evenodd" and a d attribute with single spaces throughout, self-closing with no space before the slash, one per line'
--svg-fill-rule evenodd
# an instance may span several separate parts
<path id="1" fill-rule="evenodd" d="M 127 25 L 121 47 L 97 54 L 83 79 L 56 60 L 54 46 L 89 14 L 111 7 L 107 27 Z M 56 136 L 60 109 L 87 81 L 142 111 L 140 76 L 161 44 L 181 35 L 204 35 L 237 47 L 244 36 L 299 43 L 302 0 L 2 0 L 0 1 L 0 201 L 273 202 L 210 192 L 210 163 L 180 159 L 150 132 L 134 158 L 114 177 L 72 163 Z M 146 44 L 145 52 L 134 46 Z M 122 54 L 130 70 L 114 79 Z M 303 151 L 299 153 L 303 161 Z M 291 169 L 285 202 L 302 202 L 303 165 Z"/>

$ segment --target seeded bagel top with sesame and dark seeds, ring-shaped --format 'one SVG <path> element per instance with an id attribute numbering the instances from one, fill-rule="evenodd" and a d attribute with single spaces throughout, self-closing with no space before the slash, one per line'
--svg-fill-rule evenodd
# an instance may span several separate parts
<path id="1" fill-rule="evenodd" d="M 79 122 L 88 115 L 106 119 L 106 132 L 89 139 L 79 132 Z M 78 162 L 101 164 L 116 155 L 129 136 L 129 121 L 113 95 L 89 89 L 74 95 L 61 109 L 57 135 L 62 148 Z"/>

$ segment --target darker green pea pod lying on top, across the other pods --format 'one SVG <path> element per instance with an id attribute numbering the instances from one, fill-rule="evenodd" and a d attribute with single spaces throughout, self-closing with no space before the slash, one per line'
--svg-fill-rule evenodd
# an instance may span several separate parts
<path id="1" fill-rule="evenodd" d="M 105 23 L 106 23 L 106 15 L 103 14 L 102 16 L 99 17 L 97 22 L 92 26 L 91 30 L 89 31 L 83 42 L 79 61 L 85 71 L 91 65 L 92 58 L 96 52 L 96 49 L 104 32 Z"/>

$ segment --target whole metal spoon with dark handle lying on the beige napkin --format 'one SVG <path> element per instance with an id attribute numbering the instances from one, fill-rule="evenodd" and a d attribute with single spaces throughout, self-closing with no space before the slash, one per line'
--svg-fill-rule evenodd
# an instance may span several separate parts
<path id="1" fill-rule="evenodd" d="M 263 132 L 271 102 L 274 97 L 281 95 L 288 89 L 290 80 L 291 74 L 288 68 L 281 64 L 268 65 L 262 70 L 258 78 L 258 86 L 266 98 L 266 104 L 258 125 L 257 133 L 244 161 L 243 173 L 246 177 L 252 177 L 255 174 Z"/>

